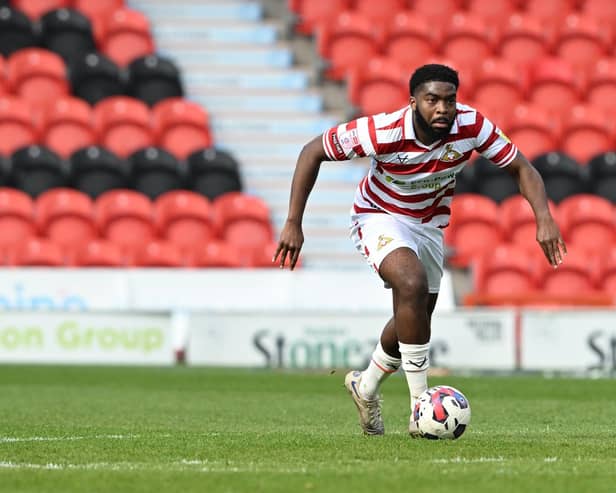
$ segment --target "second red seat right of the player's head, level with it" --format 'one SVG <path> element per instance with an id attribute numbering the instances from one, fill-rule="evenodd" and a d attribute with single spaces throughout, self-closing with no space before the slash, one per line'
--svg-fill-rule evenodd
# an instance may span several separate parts
<path id="1" fill-rule="evenodd" d="M 574 68 L 559 58 L 537 60 L 531 70 L 529 99 L 538 106 L 562 116 L 580 98 Z"/>

